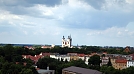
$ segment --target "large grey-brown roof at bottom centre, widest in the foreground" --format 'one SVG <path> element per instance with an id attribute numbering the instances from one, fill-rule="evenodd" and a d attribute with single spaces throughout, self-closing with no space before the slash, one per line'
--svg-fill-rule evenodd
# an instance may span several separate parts
<path id="1" fill-rule="evenodd" d="M 75 66 L 64 68 L 63 71 L 69 71 L 69 72 L 80 73 L 80 74 L 102 74 L 102 72 L 97 70 L 86 69 L 86 68 L 75 67 Z"/>

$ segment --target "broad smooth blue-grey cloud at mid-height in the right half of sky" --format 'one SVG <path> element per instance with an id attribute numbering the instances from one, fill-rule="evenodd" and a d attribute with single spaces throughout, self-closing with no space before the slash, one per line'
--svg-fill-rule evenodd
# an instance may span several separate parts
<path id="1" fill-rule="evenodd" d="M 76 14 L 75 12 L 79 13 Z M 70 15 L 66 18 L 66 20 L 63 21 L 63 23 L 66 23 L 66 27 L 102 30 L 114 26 L 124 27 L 129 22 L 134 20 L 133 12 L 131 12 L 130 14 L 122 13 L 120 11 L 84 12 L 84 10 L 76 10 L 75 12 L 72 14 L 73 17 L 72 15 Z"/>

